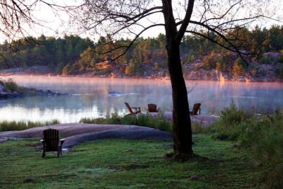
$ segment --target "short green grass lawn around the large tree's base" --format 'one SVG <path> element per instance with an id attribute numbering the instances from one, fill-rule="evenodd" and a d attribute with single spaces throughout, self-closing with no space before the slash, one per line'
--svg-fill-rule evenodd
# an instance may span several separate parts
<path id="1" fill-rule="evenodd" d="M 231 142 L 195 134 L 199 155 L 186 162 L 164 159 L 172 142 L 99 140 L 71 149 L 61 158 L 35 146 L 37 139 L 0 144 L 1 188 L 256 188 L 260 168 L 249 151 Z M 170 146 L 170 145 L 169 145 Z M 191 181 L 190 176 L 200 177 Z M 26 178 L 34 182 L 24 183 Z"/>

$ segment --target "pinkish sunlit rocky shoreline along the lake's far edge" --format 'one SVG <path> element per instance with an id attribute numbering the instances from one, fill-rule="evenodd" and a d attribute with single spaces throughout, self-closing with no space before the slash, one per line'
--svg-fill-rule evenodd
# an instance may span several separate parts
<path id="1" fill-rule="evenodd" d="M 270 64 L 250 63 L 246 74 L 237 77 L 229 72 L 221 72 L 216 69 L 203 69 L 202 62 L 194 62 L 183 67 L 185 80 L 211 80 L 211 81 L 283 81 L 277 74 L 279 67 Z M 255 69 L 256 68 L 256 69 Z M 0 76 L 20 75 L 20 76 L 62 76 L 55 74 L 55 71 L 46 66 L 30 67 L 28 69 L 14 68 L 0 70 Z M 99 78 L 122 78 L 122 79 L 161 79 L 169 80 L 170 77 L 166 71 L 156 73 L 144 73 L 144 76 L 127 76 L 112 70 L 108 74 L 96 74 L 93 71 L 82 71 L 78 74 L 64 75 L 64 77 L 99 77 Z M 40 93 L 40 92 L 39 92 Z M 56 95 L 56 94 L 54 94 Z"/>

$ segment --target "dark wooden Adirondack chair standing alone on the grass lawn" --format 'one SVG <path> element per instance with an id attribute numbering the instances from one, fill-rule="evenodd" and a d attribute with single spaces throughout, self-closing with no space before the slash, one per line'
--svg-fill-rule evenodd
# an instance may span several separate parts
<path id="1" fill-rule="evenodd" d="M 45 157 L 46 151 L 57 151 L 57 157 L 62 156 L 62 144 L 64 141 L 64 139 L 59 139 L 58 130 L 44 130 L 43 139 L 40 140 L 43 144 L 42 158 Z"/>

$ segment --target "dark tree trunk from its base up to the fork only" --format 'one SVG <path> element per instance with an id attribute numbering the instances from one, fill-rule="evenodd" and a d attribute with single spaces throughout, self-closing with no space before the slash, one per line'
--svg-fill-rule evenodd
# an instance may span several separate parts
<path id="1" fill-rule="evenodd" d="M 190 122 L 187 88 L 180 62 L 180 48 L 168 45 L 168 69 L 173 96 L 173 138 L 175 156 L 191 156 L 192 128 Z"/>

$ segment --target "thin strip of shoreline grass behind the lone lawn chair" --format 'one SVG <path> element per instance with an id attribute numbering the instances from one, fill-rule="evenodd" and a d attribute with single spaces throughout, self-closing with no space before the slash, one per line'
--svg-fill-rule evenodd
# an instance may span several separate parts
<path id="1" fill-rule="evenodd" d="M 24 122 L 24 121 L 0 121 L 0 132 L 10 130 L 27 130 L 32 127 L 42 127 L 46 125 L 56 125 L 60 122 L 58 120 L 50 120 L 46 122 Z"/>

